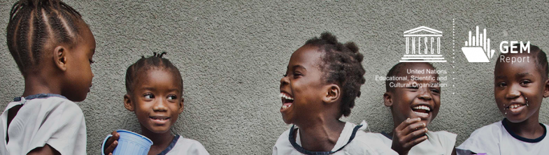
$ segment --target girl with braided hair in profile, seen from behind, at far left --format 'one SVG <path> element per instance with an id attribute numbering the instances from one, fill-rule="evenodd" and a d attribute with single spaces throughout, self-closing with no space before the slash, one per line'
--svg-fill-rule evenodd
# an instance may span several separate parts
<path id="1" fill-rule="evenodd" d="M 95 38 L 59 0 L 21 0 L 6 40 L 24 78 L 22 96 L 0 117 L 0 154 L 86 154 L 83 101 L 94 77 Z"/>

